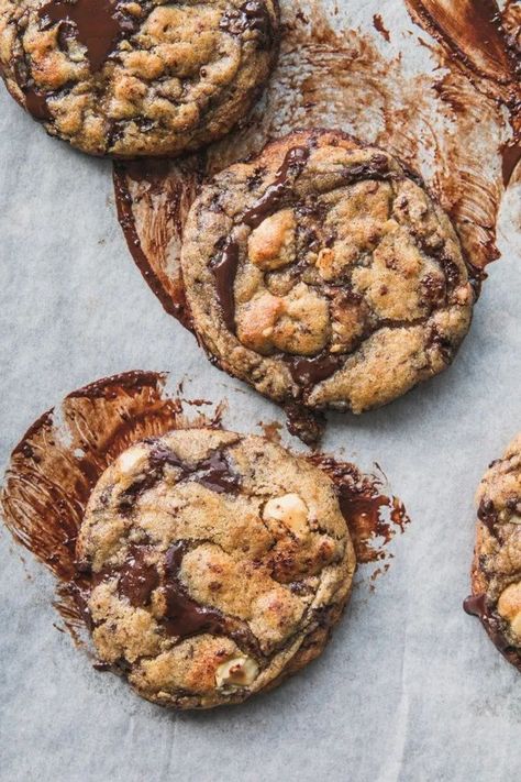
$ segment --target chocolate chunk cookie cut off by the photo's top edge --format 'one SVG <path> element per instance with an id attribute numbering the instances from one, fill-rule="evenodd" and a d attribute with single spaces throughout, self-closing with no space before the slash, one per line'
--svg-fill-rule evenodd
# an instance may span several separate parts
<path id="1" fill-rule="evenodd" d="M 278 0 L 0 0 L 0 69 L 52 135 L 177 155 L 228 133 L 266 81 Z"/>

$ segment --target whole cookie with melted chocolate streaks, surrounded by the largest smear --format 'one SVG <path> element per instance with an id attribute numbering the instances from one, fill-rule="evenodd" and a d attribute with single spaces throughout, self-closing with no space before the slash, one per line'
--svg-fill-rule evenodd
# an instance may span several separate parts
<path id="1" fill-rule="evenodd" d="M 362 412 L 444 370 L 474 302 L 456 233 L 387 152 L 292 133 L 202 188 L 184 234 L 195 330 L 279 403 Z"/>

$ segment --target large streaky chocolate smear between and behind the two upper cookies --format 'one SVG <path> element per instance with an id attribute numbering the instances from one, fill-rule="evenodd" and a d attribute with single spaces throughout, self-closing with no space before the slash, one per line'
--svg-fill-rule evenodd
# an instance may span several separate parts
<path id="1" fill-rule="evenodd" d="M 516 4 L 501 13 L 491 0 L 407 0 L 407 8 L 418 35 L 393 27 L 388 32 L 399 48 L 383 52 L 376 0 L 369 1 L 366 22 L 355 22 L 348 3 L 339 4 L 332 19 L 325 0 L 313 2 L 306 15 L 282 0 L 279 63 L 247 125 L 212 144 L 204 158 L 165 165 L 154 197 L 146 170 L 155 163 L 144 162 L 137 172 L 132 163 L 117 164 L 130 250 L 165 308 L 171 311 L 167 301 L 174 301 L 176 317 L 184 311 L 176 309 L 182 280 L 180 241 L 171 236 L 182 233 L 195 179 L 257 155 L 268 140 L 296 128 L 342 128 L 397 154 L 422 174 L 451 214 L 473 274 L 479 277 L 499 257 L 496 223 L 521 123 Z M 432 63 L 419 66 L 425 48 Z M 279 208 L 284 181 L 279 186 L 246 214 L 252 225 Z"/>

